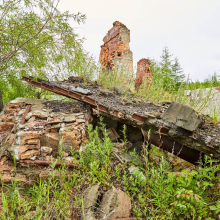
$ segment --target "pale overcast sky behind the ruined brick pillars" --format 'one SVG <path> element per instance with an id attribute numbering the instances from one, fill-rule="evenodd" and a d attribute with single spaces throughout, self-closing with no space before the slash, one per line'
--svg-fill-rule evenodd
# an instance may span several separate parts
<path id="1" fill-rule="evenodd" d="M 120 21 L 131 31 L 134 66 L 141 58 L 159 60 L 167 46 L 192 80 L 220 75 L 220 0 L 61 0 L 59 9 L 86 14 L 86 23 L 73 27 L 96 60 Z"/>

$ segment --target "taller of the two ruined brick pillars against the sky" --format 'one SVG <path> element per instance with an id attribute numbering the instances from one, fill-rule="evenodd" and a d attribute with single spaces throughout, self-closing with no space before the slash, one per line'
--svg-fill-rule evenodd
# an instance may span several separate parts
<path id="1" fill-rule="evenodd" d="M 99 57 L 102 69 L 117 68 L 117 72 L 132 75 L 133 54 L 129 46 L 130 30 L 121 22 L 115 21 L 103 41 Z"/>

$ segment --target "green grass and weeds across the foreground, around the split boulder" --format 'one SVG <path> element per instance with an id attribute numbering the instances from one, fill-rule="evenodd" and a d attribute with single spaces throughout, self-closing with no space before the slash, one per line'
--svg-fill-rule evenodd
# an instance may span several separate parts
<path id="1" fill-rule="evenodd" d="M 99 130 L 103 131 L 101 139 Z M 133 152 L 134 159 L 122 164 L 112 153 L 114 144 L 103 124 L 95 129 L 89 125 L 88 133 L 84 151 L 72 151 L 78 168 L 63 165 L 55 169 L 52 164 L 47 178 L 24 185 L 2 181 L 0 219 L 79 219 L 86 211 L 83 194 L 93 184 L 122 189 L 131 198 L 131 214 L 136 218 L 220 218 L 219 161 L 206 157 L 203 166 L 176 172 L 163 154 L 157 164 L 149 160 L 151 151 L 143 146 L 143 163 Z M 126 143 L 126 136 L 123 141 Z M 133 165 L 138 173 L 128 171 Z"/>

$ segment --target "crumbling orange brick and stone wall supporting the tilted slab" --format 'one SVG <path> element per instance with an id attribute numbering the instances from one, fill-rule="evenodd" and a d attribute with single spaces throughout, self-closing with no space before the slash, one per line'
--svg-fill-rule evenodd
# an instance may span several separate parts
<path id="1" fill-rule="evenodd" d="M 28 106 L 31 110 L 25 116 Z M 59 143 L 63 146 L 63 160 L 72 162 L 71 149 L 79 150 L 85 145 L 85 125 L 89 120 L 89 111 L 81 102 L 25 98 L 9 102 L 0 113 L 0 176 L 5 182 L 15 178 L 14 159 L 19 162 L 57 158 Z M 26 178 L 17 172 L 17 180 Z"/>

